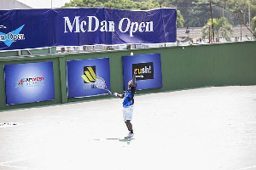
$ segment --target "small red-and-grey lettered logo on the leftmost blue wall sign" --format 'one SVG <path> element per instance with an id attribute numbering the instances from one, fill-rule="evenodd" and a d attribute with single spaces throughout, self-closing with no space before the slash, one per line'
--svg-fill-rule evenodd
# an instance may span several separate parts
<path id="1" fill-rule="evenodd" d="M 19 82 L 17 82 L 15 88 L 22 87 L 38 87 L 38 86 L 44 86 L 44 79 L 45 77 L 32 77 L 32 78 L 21 78 Z"/>

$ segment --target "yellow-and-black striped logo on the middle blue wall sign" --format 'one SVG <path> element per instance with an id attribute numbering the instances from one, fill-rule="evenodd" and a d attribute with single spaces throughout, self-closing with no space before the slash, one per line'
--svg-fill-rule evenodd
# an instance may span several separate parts
<path id="1" fill-rule="evenodd" d="M 84 89 L 96 88 L 96 65 L 84 66 L 84 75 L 81 77 L 84 79 Z"/>

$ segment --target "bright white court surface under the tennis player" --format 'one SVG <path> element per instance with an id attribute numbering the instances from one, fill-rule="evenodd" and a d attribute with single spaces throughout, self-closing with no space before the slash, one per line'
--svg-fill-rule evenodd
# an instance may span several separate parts
<path id="1" fill-rule="evenodd" d="M 0 169 L 256 169 L 256 86 L 136 94 L 130 143 L 121 104 L 0 112 Z"/>

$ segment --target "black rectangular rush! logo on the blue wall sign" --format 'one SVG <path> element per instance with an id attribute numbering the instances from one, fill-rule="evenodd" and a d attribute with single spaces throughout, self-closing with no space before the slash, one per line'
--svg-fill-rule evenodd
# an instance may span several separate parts
<path id="1" fill-rule="evenodd" d="M 154 79 L 153 64 L 153 62 L 132 64 L 132 71 L 137 69 L 136 80 Z"/>

